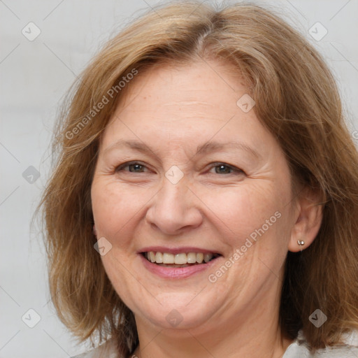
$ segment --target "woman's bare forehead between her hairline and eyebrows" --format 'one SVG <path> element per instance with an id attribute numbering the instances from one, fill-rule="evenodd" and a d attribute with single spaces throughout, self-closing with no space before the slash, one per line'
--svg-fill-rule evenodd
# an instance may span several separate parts
<path id="1" fill-rule="evenodd" d="M 104 146 L 118 136 L 196 146 L 211 137 L 234 141 L 241 136 L 260 147 L 268 140 L 264 136 L 270 136 L 255 108 L 245 113 L 238 106 L 238 100 L 248 96 L 248 87 L 229 63 L 157 64 L 139 70 L 127 86 L 104 133 Z"/>

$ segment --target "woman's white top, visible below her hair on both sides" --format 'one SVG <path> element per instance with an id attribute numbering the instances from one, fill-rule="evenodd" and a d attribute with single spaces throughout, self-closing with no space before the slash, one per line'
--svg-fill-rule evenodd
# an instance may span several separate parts
<path id="1" fill-rule="evenodd" d="M 345 345 L 317 350 L 311 354 L 301 331 L 294 342 L 292 342 L 282 358 L 357 358 L 358 357 L 358 331 L 345 335 Z M 99 348 L 90 352 L 76 355 L 72 358 L 121 358 L 115 347 L 115 342 L 109 340 Z M 127 357 L 124 357 L 127 358 Z"/>

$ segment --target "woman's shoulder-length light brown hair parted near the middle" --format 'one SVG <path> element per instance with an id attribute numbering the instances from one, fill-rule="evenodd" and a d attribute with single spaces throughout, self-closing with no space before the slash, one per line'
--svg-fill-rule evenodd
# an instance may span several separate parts
<path id="1" fill-rule="evenodd" d="M 41 201 L 50 293 L 59 318 L 82 341 L 112 336 L 123 355 L 134 352 L 134 315 L 93 247 L 90 187 L 99 138 L 124 93 L 118 87 L 122 78 L 163 62 L 208 58 L 236 66 L 294 180 L 322 194 L 315 241 L 287 255 L 280 327 L 292 339 L 303 329 L 313 350 L 337 345 L 343 333 L 358 328 L 357 149 L 322 57 L 272 11 L 243 3 L 218 10 L 196 1 L 159 6 L 110 40 L 78 79 L 59 118 L 59 156 Z M 91 112 L 113 88 L 113 99 Z M 328 317 L 320 328 L 308 320 L 317 308 Z"/>

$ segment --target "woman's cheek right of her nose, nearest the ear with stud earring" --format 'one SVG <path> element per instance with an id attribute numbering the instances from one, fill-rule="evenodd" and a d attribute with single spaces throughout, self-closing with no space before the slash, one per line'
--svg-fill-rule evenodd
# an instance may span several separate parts
<path id="1" fill-rule="evenodd" d="M 278 273 L 287 255 L 289 200 L 289 185 L 282 180 L 252 180 L 250 185 L 222 196 L 220 203 L 225 210 L 218 210 L 220 225 L 232 252 L 236 252 L 235 260 L 240 261 L 233 272 L 250 271 L 255 266 L 258 276 L 265 274 L 267 267 Z"/>

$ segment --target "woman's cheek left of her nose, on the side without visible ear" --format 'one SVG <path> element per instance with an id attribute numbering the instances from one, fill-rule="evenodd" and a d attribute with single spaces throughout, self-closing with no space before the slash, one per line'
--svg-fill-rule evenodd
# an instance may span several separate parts
<path id="1" fill-rule="evenodd" d="M 143 190 L 120 186 L 105 176 L 98 176 L 92 182 L 91 199 L 97 237 L 104 237 L 111 244 L 101 260 L 108 278 L 122 299 L 127 298 L 127 287 L 132 279 L 127 268 L 133 264 L 133 260 L 138 259 L 132 237 L 136 230 L 136 215 L 141 215 L 140 209 L 148 201 Z M 133 254 L 128 255 L 128 252 Z"/>

